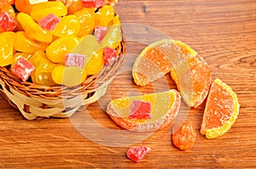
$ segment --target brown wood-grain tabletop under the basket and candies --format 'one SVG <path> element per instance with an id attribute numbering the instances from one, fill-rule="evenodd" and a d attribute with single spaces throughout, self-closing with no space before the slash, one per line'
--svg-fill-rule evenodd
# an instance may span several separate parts
<path id="1" fill-rule="evenodd" d="M 187 118 L 193 121 L 197 132 L 195 146 L 190 151 L 181 151 L 172 145 L 170 126 L 151 133 L 132 145 L 129 145 L 130 138 L 127 139 L 128 143 L 120 144 L 122 138 L 106 136 L 102 129 L 86 128 L 86 125 L 84 127 L 84 115 L 89 113 L 103 128 L 122 131 L 104 113 L 108 104 L 106 101 L 91 104 L 87 110 L 70 119 L 26 121 L 1 97 L 0 166 L 255 168 L 256 2 L 120 0 L 115 9 L 124 27 L 126 24 L 128 37 L 124 67 L 109 86 L 108 96 L 111 99 L 131 93 L 149 93 L 153 89 L 160 91 L 165 87 L 176 88 L 169 76 L 163 81 L 167 83 L 161 83 L 160 80 L 153 86 L 143 88 L 136 87 L 132 82 L 131 67 L 137 54 L 147 42 L 154 41 L 158 35 L 165 35 L 194 48 L 207 61 L 213 78 L 220 78 L 237 93 L 241 109 L 234 126 L 224 136 L 207 140 L 199 133 L 203 115 L 201 107 L 188 112 Z M 134 29 L 131 29 L 131 24 L 136 25 Z M 127 25 L 130 26 L 129 29 Z M 155 34 L 151 32 L 152 29 Z M 132 40 L 132 36 L 137 39 Z M 100 138 L 104 139 L 104 143 Z M 139 145 L 149 146 L 151 152 L 140 163 L 134 163 L 125 153 L 131 146 Z"/>

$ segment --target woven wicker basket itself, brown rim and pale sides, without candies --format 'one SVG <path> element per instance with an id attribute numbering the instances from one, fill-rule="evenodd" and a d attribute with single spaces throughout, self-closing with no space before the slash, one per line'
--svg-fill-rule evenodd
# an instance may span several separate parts
<path id="1" fill-rule="evenodd" d="M 21 82 L 12 75 L 9 67 L 0 66 L 0 93 L 27 120 L 73 115 L 106 93 L 108 84 L 124 61 L 125 36 L 122 29 L 121 34 L 123 39 L 117 48 L 119 59 L 112 66 L 105 65 L 99 74 L 89 76 L 77 87 L 45 87 L 32 82 Z"/>

